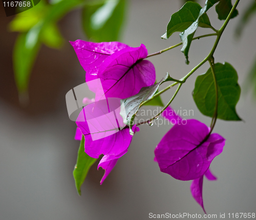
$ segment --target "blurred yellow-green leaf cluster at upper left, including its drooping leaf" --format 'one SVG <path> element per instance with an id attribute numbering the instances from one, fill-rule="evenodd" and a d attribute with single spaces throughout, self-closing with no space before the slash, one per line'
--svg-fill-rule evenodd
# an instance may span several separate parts
<path id="1" fill-rule="evenodd" d="M 41 43 L 59 48 L 63 38 L 55 25 L 67 12 L 82 6 L 84 0 L 62 0 L 54 5 L 41 2 L 18 14 L 10 23 L 10 30 L 24 32 L 16 40 L 13 67 L 19 96 L 27 93 L 29 77 Z"/>

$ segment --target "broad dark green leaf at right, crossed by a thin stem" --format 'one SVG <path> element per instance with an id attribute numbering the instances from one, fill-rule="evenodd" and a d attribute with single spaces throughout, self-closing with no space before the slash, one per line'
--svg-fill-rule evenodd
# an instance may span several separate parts
<path id="1" fill-rule="evenodd" d="M 218 83 L 218 118 L 223 120 L 241 120 L 236 112 L 241 89 L 238 75 L 229 63 L 216 63 L 215 75 Z M 206 74 L 197 77 L 193 93 L 194 101 L 200 112 L 212 117 L 215 111 L 215 85 L 209 68 Z"/>

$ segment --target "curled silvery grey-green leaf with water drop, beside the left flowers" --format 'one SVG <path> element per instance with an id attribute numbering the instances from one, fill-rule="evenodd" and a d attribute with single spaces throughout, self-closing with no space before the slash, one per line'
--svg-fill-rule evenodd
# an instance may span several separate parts
<path id="1" fill-rule="evenodd" d="M 158 90 L 158 87 L 165 81 L 168 81 L 169 74 L 165 74 L 164 78 L 152 86 L 142 87 L 138 94 L 121 100 L 120 115 L 123 118 L 123 123 L 130 127 L 130 134 L 134 135 L 132 131 L 135 114 L 138 112 L 141 103 L 150 100 Z"/>

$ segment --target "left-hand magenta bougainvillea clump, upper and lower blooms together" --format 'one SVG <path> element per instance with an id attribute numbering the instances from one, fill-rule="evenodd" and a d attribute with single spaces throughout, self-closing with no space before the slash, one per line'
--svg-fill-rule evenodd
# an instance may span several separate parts
<path id="1" fill-rule="evenodd" d="M 100 80 L 100 86 L 89 85 L 89 88 L 96 93 L 95 105 L 109 97 L 125 99 L 137 94 L 142 87 L 155 83 L 155 68 L 150 61 L 144 60 L 147 57 L 147 50 L 143 44 L 139 47 L 130 47 L 119 42 L 92 43 L 77 40 L 70 43 L 74 47 L 80 64 L 86 70 L 86 82 Z M 100 125 L 100 128 L 97 127 L 93 132 L 98 137 L 102 135 L 97 140 L 93 138 L 88 116 L 85 116 L 83 111 L 76 120 L 78 128 L 85 137 L 84 151 L 93 158 L 104 155 L 99 163 L 99 167 L 105 169 L 101 183 L 111 172 L 118 158 L 127 152 L 132 140 L 129 129 L 120 130 L 119 121 L 116 126 L 109 115 L 104 122 L 108 119 L 110 119 L 109 126 L 113 127 L 111 129 L 108 128 L 108 123 L 102 123 L 102 121 L 94 120 L 94 123 L 91 123 L 91 125 Z M 114 132 L 115 129 L 119 131 Z"/>

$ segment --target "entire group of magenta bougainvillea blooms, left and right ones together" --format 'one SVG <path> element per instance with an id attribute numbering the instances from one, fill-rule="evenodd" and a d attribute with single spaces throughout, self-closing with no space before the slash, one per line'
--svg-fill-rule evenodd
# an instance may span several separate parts
<path id="1" fill-rule="evenodd" d="M 147 50 L 143 44 L 139 47 L 130 47 L 120 42 L 93 43 L 82 40 L 76 40 L 71 44 L 86 71 L 86 82 L 95 79 L 101 81 L 101 91 L 97 86 L 89 87 L 95 92 L 95 101 L 100 100 L 102 94 L 105 98 L 126 99 L 137 94 L 142 87 L 155 83 L 155 68 L 150 61 L 145 60 Z M 85 102 L 91 101 L 85 99 Z M 178 114 L 168 114 L 169 111 L 172 111 L 170 107 L 165 109 L 162 116 L 168 120 L 181 119 Z M 78 128 L 75 139 L 81 139 L 84 135 L 84 151 L 93 158 L 104 155 L 98 164 L 98 168 L 105 169 L 100 182 L 102 184 L 117 160 L 127 152 L 133 136 L 129 133 L 129 128 L 124 127 L 112 135 L 93 140 L 87 120 L 77 119 L 76 124 Z M 133 131 L 139 131 L 136 125 L 133 126 Z M 222 152 L 225 144 L 223 137 L 209 132 L 205 124 L 188 119 L 185 125 L 174 125 L 155 149 L 155 161 L 158 162 L 161 172 L 178 180 L 193 180 L 191 193 L 203 210 L 203 176 L 208 180 L 216 180 L 209 166 Z"/>

